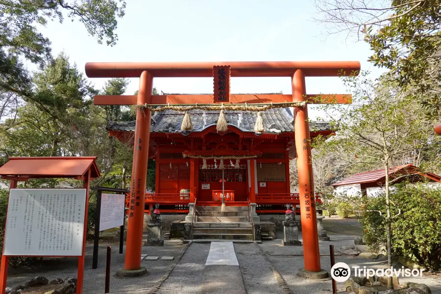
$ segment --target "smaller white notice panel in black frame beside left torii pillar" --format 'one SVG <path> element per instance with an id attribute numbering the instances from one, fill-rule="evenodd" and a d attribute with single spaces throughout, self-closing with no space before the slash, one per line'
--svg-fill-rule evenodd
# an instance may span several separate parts
<path id="1" fill-rule="evenodd" d="M 124 224 L 124 194 L 101 194 L 99 231 L 104 231 Z"/>

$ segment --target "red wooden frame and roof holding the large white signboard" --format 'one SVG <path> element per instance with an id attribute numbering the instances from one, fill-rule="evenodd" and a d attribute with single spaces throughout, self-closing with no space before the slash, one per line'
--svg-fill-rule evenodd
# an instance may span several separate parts
<path id="1" fill-rule="evenodd" d="M 16 189 L 18 181 L 26 182 L 32 178 L 73 178 L 83 181 L 83 188 L 86 189 L 86 211 L 84 214 L 85 227 L 82 255 L 78 257 L 76 294 L 81 294 L 83 288 L 89 185 L 90 181 L 99 177 L 96 159 L 97 157 L 9 157 L 9 161 L 0 167 L 1 178 L 11 181 L 9 189 Z M 5 227 L 4 236 L 6 236 L 6 230 L 7 227 Z M 4 244 L 5 242 L 3 242 L 3 246 Z M 36 255 L 33 255 L 33 257 L 35 256 Z M 0 294 L 5 294 L 7 270 L 8 256 L 2 254 L 0 266 Z"/>

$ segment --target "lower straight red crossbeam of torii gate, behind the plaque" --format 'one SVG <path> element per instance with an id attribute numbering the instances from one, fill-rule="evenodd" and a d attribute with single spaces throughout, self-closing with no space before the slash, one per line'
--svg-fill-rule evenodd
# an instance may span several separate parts
<path id="1" fill-rule="evenodd" d="M 316 98 L 321 96 L 320 101 Z M 288 102 L 290 94 L 231 94 L 229 103 L 279 103 Z M 313 104 L 350 104 L 350 94 L 308 94 L 306 101 Z M 213 95 L 152 95 L 151 104 L 209 104 L 213 103 Z M 136 95 L 95 95 L 95 105 L 136 105 Z"/>

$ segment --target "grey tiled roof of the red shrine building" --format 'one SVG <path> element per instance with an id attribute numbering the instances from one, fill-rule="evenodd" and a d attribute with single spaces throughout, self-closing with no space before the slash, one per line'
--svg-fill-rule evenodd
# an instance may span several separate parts
<path id="1" fill-rule="evenodd" d="M 219 111 L 206 111 L 207 123 L 204 126 L 202 110 L 189 111 L 193 123 L 193 131 L 202 131 L 205 128 L 216 125 L 219 118 Z M 257 119 L 257 111 L 243 111 L 242 122 L 238 125 L 240 111 L 225 111 L 225 118 L 228 125 L 234 125 L 245 132 L 253 132 L 254 124 Z M 165 110 L 153 112 L 150 121 L 150 132 L 180 132 L 183 112 L 174 110 Z M 273 108 L 262 112 L 262 118 L 265 123 L 265 133 L 294 132 L 294 117 L 289 108 Z M 332 127 L 325 122 L 310 122 L 311 132 L 331 131 Z M 132 122 L 109 122 L 108 130 L 115 131 L 135 131 L 135 121 Z"/>

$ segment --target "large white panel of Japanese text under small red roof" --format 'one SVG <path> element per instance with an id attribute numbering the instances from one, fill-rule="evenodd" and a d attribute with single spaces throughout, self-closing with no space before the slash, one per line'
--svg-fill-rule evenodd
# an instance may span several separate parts
<path id="1" fill-rule="evenodd" d="M 11 189 L 5 255 L 80 256 L 85 189 Z"/>

